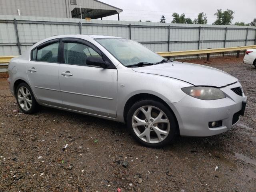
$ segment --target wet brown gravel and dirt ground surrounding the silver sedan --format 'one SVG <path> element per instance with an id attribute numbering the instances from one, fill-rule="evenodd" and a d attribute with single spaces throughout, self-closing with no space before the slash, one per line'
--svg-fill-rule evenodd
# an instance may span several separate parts
<path id="1" fill-rule="evenodd" d="M 122 123 L 44 107 L 17 112 L 1 78 L 0 191 L 255 192 L 256 68 L 242 57 L 205 61 L 186 60 L 238 78 L 245 116 L 223 134 L 178 136 L 160 149 L 140 146 Z"/>

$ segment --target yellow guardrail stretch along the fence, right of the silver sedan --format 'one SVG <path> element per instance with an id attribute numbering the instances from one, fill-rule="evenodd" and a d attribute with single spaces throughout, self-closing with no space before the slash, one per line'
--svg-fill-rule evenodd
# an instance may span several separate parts
<path id="1" fill-rule="evenodd" d="M 232 51 L 241 51 L 246 49 L 256 49 L 256 45 L 216 48 L 216 49 L 187 50 L 187 51 L 169 51 L 169 52 L 167 51 L 167 52 L 157 52 L 157 54 L 159 54 L 162 57 L 174 57 L 174 56 L 191 56 L 191 55 L 200 55 L 200 54 L 232 52 Z"/>

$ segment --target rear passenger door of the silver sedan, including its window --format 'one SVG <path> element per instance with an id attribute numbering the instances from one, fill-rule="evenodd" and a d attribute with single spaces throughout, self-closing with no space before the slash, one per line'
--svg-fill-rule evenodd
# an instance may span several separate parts
<path id="1" fill-rule="evenodd" d="M 40 102 L 60 106 L 62 98 L 59 84 L 60 39 L 50 40 L 31 51 L 26 64 L 28 80 Z"/>

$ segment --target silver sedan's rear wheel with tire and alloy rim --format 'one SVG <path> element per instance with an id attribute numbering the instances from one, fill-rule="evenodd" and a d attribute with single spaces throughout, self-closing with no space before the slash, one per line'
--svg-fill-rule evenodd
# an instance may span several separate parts
<path id="1" fill-rule="evenodd" d="M 16 100 L 20 110 L 25 114 L 32 114 L 37 111 L 38 103 L 31 88 L 26 83 L 21 83 L 16 89 Z"/>

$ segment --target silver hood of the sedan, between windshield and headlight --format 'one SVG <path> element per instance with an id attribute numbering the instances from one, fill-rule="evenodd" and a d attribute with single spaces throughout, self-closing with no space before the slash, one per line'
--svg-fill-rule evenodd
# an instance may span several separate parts
<path id="1" fill-rule="evenodd" d="M 238 81 L 238 79 L 230 74 L 216 68 L 176 61 L 152 66 L 136 67 L 132 68 L 132 70 L 175 78 L 194 86 L 222 87 Z"/>

